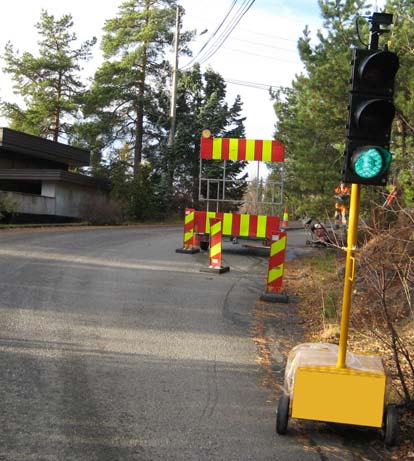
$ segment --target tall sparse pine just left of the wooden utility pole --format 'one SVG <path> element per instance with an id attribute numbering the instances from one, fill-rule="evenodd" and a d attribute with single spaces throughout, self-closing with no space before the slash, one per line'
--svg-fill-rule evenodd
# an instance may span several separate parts
<path id="1" fill-rule="evenodd" d="M 104 26 L 105 62 L 95 74 L 85 114 L 105 125 L 107 148 L 128 144 L 135 175 L 143 147 L 154 142 L 148 113 L 153 89 L 170 72 L 164 55 L 172 42 L 175 7 L 176 0 L 129 0 Z"/>

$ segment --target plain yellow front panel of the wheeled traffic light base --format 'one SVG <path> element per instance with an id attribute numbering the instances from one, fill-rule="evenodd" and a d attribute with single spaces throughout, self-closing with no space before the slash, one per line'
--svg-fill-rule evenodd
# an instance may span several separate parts
<path id="1" fill-rule="evenodd" d="M 296 369 L 292 418 L 381 427 L 386 376 L 352 368 Z"/>

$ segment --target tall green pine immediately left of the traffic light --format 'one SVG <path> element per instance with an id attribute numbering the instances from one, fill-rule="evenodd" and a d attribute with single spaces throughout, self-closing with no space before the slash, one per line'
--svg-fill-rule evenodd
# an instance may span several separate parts
<path id="1" fill-rule="evenodd" d="M 275 136 L 286 148 L 285 191 L 291 212 L 324 217 L 341 178 L 351 48 L 360 45 L 355 21 L 365 2 L 320 0 L 319 5 L 324 29 L 317 33 L 317 44 L 311 43 L 307 27 L 298 42 L 304 73 L 292 88 L 273 96 Z M 360 28 L 364 30 L 362 24 Z"/>

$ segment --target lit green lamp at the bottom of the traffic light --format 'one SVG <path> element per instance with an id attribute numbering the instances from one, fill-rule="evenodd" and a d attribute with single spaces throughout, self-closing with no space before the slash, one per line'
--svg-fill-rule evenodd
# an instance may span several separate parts
<path id="1" fill-rule="evenodd" d="M 372 179 L 388 169 L 391 164 L 391 154 L 381 147 L 364 146 L 355 151 L 352 163 L 357 176 Z"/>

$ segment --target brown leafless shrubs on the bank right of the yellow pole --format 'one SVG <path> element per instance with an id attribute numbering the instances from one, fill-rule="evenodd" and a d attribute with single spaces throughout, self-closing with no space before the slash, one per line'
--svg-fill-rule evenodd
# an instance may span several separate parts
<path id="1" fill-rule="evenodd" d="M 414 401 L 414 214 L 392 213 L 397 216 L 388 227 L 368 229 L 370 240 L 359 252 L 360 300 L 353 320 L 363 322 L 392 356 L 394 388 L 409 404 Z"/>

